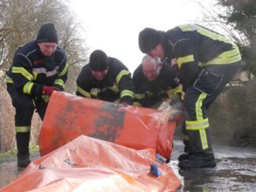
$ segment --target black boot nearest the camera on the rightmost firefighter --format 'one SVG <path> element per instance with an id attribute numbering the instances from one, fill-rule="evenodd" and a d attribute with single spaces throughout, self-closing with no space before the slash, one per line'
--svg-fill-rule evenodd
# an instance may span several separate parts
<path id="1" fill-rule="evenodd" d="M 203 151 L 201 153 L 193 153 L 188 159 L 180 161 L 180 168 L 214 168 L 216 161 L 213 151 Z"/>

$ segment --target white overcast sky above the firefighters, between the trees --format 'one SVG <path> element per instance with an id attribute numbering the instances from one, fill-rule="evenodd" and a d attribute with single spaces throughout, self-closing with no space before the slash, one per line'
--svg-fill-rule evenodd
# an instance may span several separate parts
<path id="1" fill-rule="evenodd" d="M 166 31 L 195 23 L 201 16 L 199 5 L 192 0 L 72 0 L 71 6 L 86 29 L 90 53 L 101 49 L 131 72 L 144 56 L 138 47 L 138 34 L 144 27 Z"/>

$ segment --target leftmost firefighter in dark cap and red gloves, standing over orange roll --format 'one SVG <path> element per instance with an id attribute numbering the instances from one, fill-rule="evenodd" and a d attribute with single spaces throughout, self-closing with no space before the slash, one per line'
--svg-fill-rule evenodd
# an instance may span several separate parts
<path id="1" fill-rule="evenodd" d="M 67 57 L 58 45 L 53 24 L 43 24 L 36 40 L 16 50 L 13 65 L 6 71 L 7 91 L 15 107 L 17 166 L 31 162 L 29 141 L 34 110 L 43 120 L 49 96 L 63 90 L 68 77 Z"/>

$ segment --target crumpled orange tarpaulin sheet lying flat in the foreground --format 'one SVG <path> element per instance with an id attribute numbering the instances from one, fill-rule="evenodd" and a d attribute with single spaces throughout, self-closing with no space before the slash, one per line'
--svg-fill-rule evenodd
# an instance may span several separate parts
<path id="1" fill-rule="evenodd" d="M 157 165 L 160 176 L 150 173 Z M 4 191 L 174 191 L 181 185 L 166 164 L 155 161 L 155 149 L 133 150 L 79 136 L 32 161 Z"/>

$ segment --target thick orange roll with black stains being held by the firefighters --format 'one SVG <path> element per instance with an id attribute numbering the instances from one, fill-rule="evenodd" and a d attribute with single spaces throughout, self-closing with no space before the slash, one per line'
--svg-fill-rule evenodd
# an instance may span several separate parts
<path id="1" fill-rule="evenodd" d="M 86 135 L 141 150 L 153 148 L 170 158 L 175 121 L 169 113 L 143 107 L 120 106 L 66 92 L 53 92 L 42 122 L 40 154 Z"/>

